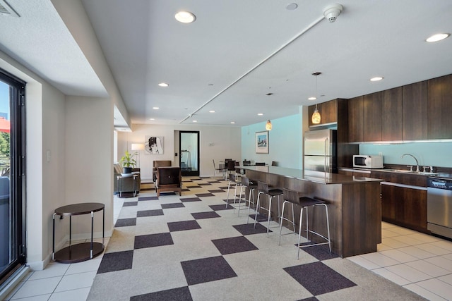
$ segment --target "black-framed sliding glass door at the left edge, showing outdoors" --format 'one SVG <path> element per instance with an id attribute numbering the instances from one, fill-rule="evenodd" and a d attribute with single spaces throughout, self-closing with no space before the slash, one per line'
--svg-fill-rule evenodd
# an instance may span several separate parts
<path id="1" fill-rule="evenodd" d="M 25 264 L 25 82 L 0 70 L 0 288 Z"/>

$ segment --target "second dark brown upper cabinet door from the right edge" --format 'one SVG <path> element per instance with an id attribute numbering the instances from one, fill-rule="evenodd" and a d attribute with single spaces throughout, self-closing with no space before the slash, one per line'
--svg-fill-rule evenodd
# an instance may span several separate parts
<path id="1" fill-rule="evenodd" d="M 427 139 L 427 80 L 402 87 L 403 140 Z"/>

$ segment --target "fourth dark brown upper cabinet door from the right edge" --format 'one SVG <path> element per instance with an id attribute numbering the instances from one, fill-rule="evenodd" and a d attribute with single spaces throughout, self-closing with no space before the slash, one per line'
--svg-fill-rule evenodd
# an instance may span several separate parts
<path id="1" fill-rule="evenodd" d="M 364 142 L 381 141 L 381 92 L 362 97 Z"/>

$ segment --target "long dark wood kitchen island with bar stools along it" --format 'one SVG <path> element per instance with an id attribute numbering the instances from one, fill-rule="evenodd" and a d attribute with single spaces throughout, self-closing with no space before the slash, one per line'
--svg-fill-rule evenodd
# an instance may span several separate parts
<path id="1" fill-rule="evenodd" d="M 251 180 L 261 180 L 271 186 L 296 190 L 301 192 L 300 195 L 326 202 L 330 219 L 331 248 L 340 257 L 376 252 L 376 245 L 381 242 L 381 179 L 278 166 L 241 168 Z M 290 212 L 286 210 L 285 214 L 288 213 Z M 278 215 L 277 202 L 273 203 L 272 214 Z M 310 228 L 326 235 L 326 221 L 322 210 L 309 210 L 309 221 Z M 298 228 L 299 207 L 295 207 L 295 223 Z M 315 241 L 315 238 L 310 239 Z M 295 242 L 294 240 L 293 243 Z"/>

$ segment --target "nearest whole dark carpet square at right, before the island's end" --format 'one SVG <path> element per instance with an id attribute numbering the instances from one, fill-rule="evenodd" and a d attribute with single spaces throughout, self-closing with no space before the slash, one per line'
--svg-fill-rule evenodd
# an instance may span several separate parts
<path id="1" fill-rule="evenodd" d="M 312 295 L 322 295 L 356 285 L 322 262 L 290 266 L 284 270 Z"/>

